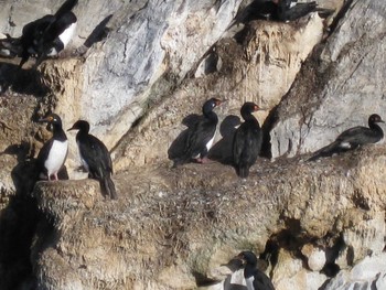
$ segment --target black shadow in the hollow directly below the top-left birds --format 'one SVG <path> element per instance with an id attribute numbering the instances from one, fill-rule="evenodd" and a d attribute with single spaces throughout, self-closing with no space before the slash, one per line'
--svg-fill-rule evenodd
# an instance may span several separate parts
<path id="1" fill-rule="evenodd" d="M 0 96 L 8 88 L 35 97 L 43 97 L 50 93 L 50 88 L 42 83 L 39 71 L 22 69 L 15 64 L 0 62 Z"/>

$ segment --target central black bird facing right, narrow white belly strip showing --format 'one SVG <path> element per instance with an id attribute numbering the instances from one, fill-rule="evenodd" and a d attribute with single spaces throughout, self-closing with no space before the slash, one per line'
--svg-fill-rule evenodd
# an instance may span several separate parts
<path id="1" fill-rule="evenodd" d="M 222 101 L 217 98 L 211 98 L 204 103 L 203 116 L 189 129 L 183 152 L 180 157 L 173 158 L 173 167 L 187 163 L 192 159 L 199 163 L 207 161 L 206 157 L 213 144 L 218 122 L 213 109 L 221 104 Z"/>

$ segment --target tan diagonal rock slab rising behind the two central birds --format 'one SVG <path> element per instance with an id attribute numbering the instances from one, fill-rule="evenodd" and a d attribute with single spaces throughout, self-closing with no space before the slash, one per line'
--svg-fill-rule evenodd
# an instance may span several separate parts
<path id="1" fill-rule="evenodd" d="M 129 135 L 115 149 L 117 168 L 143 165 L 163 159 L 159 152 L 167 152 L 186 128 L 181 125 L 183 117 L 180 116 L 201 114 L 202 104 L 210 97 L 227 100 L 216 108 L 219 126 L 228 115 L 239 116 L 239 108 L 246 100 L 264 108 L 256 114 L 262 125 L 269 110 L 290 88 L 302 62 L 322 39 L 322 20 L 312 14 L 297 24 L 251 22 L 244 45 L 233 37 L 221 39 L 211 51 L 212 56 L 207 56 L 221 60 L 221 64 L 216 64 L 219 71 L 205 75 L 203 67 L 206 63 L 202 61 L 194 71 L 199 78 L 184 82 L 171 98 L 142 119 L 136 128 L 140 133 L 135 139 Z M 189 104 L 185 104 L 186 99 Z M 221 139 L 222 136 L 217 135 L 215 141 Z"/>

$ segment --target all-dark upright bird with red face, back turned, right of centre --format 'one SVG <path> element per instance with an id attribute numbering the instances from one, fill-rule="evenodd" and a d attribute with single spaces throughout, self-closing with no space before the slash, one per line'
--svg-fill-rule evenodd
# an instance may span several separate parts
<path id="1" fill-rule="evenodd" d="M 259 107 L 250 101 L 243 105 L 240 112 L 245 120 L 237 128 L 233 139 L 233 161 L 238 176 L 246 179 L 249 168 L 256 162 L 262 144 L 262 132 L 257 119 L 251 112 Z"/>

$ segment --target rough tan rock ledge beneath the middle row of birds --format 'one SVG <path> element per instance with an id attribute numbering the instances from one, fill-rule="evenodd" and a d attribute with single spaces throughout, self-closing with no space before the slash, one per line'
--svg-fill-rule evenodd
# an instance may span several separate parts
<path id="1" fill-rule="evenodd" d="M 374 229 L 363 225 L 386 213 L 386 184 L 379 170 L 386 165 L 385 153 L 385 147 L 372 146 L 318 163 L 261 162 L 244 182 L 230 167 L 217 163 L 178 170 L 162 164 L 116 175 L 118 202 L 104 201 L 94 181 L 39 183 L 37 205 L 52 221 L 54 233 L 47 240 L 43 232 L 36 245 L 44 247 L 34 248 L 40 253 L 39 284 L 42 289 L 71 289 L 74 282 L 78 289 L 98 284 L 194 289 L 204 286 L 203 277 L 213 277 L 211 269 L 239 250 L 264 253 L 270 240 L 277 247 L 270 253 L 278 257 L 271 260 L 270 271 L 277 289 L 288 284 L 323 289 L 328 276 L 303 268 L 307 257 L 301 249 L 307 245 L 326 253 L 334 248 L 325 272 L 346 247 L 350 267 L 369 253 L 383 255 L 382 247 L 373 247 Z M 350 233 L 368 243 L 342 239 Z M 345 272 L 358 277 L 355 267 Z M 361 269 L 374 283 L 384 279 L 380 268 L 372 268 L 371 273 Z"/>

